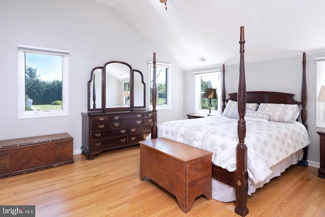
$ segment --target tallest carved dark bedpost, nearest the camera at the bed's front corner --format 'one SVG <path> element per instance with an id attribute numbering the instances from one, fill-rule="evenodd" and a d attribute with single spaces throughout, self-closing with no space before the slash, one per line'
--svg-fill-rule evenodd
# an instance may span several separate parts
<path id="1" fill-rule="evenodd" d="M 238 82 L 238 140 L 237 144 L 237 169 L 235 172 L 236 180 L 236 207 L 235 212 L 241 216 L 248 214 L 247 193 L 248 193 L 248 173 L 247 173 L 247 146 L 245 144 L 246 137 L 246 121 L 244 119 L 246 111 L 246 81 L 245 81 L 245 62 L 244 62 L 244 26 L 240 27 L 240 65 L 239 65 L 239 82 Z"/>

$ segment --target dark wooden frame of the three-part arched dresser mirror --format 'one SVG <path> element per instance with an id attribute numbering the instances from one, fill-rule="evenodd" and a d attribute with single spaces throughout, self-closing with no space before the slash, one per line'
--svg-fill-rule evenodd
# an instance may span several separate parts
<path id="1" fill-rule="evenodd" d="M 127 66 L 130 69 L 130 106 L 129 107 L 114 107 L 114 108 L 107 108 L 106 107 L 106 94 L 109 94 L 106 92 L 106 66 L 109 64 L 123 64 L 125 66 Z M 102 70 L 102 103 L 101 103 L 101 108 L 99 108 L 99 105 L 96 103 L 96 108 L 91 108 L 91 104 L 93 100 L 96 100 L 96 96 L 90 96 L 90 92 L 91 92 L 91 88 L 93 88 L 93 86 L 91 86 L 91 82 L 93 80 L 93 74 L 95 72 L 95 70 L 97 69 L 101 69 Z M 134 106 L 134 73 L 137 72 L 140 74 L 141 76 L 141 83 L 143 85 L 143 106 Z M 93 92 L 93 91 L 92 91 Z M 109 61 L 107 62 L 104 67 L 95 67 L 91 70 L 91 75 L 90 75 L 90 80 L 88 81 L 88 111 L 129 111 L 129 110 L 133 110 L 134 108 L 145 108 L 146 106 L 146 84 L 143 80 L 143 74 L 141 71 L 139 70 L 133 70 L 132 67 L 127 64 L 124 63 L 123 61 Z"/>

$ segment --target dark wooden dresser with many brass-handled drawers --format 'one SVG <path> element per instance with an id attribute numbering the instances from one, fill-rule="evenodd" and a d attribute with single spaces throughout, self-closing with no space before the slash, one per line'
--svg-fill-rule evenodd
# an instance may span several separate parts
<path id="1" fill-rule="evenodd" d="M 151 130 L 149 110 L 83 112 L 81 150 L 88 160 L 102 151 L 138 144 Z"/>

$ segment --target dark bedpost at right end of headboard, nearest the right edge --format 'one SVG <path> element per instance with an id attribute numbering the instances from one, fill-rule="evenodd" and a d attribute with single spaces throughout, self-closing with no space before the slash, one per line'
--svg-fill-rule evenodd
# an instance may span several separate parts
<path id="1" fill-rule="evenodd" d="M 306 129 L 308 130 L 308 125 L 307 125 L 307 80 L 306 80 L 306 53 L 303 53 L 303 80 L 302 80 L 302 84 L 301 84 L 301 105 L 302 105 L 302 109 L 301 109 L 301 119 L 302 119 L 302 123 L 303 125 L 306 127 Z M 298 161 L 298 164 L 300 166 L 304 166 L 307 167 L 308 166 L 308 162 L 307 162 L 307 156 L 308 156 L 308 146 L 303 148 L 304 150 L 304 156 L 303 159 L 301 161 Z"/>

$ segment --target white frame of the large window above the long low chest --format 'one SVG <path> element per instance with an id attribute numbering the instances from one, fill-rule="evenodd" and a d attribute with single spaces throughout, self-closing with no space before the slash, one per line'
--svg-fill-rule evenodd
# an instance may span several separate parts
<path id="1" fill-rule="evenodd" d="M 69 115 L 69 51 L 18 45 L 18 119 Z M 25 53 L 58 55 L 62 57 L 62 109 L 25 111 Z"/>

